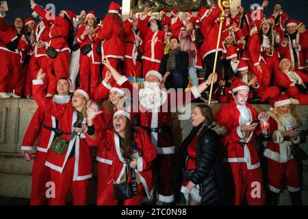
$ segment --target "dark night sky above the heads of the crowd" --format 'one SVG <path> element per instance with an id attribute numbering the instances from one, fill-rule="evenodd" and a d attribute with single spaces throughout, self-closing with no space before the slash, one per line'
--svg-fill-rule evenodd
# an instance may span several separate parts
<path id="1" fill-rule="evenodd" d="M 28 0 L 7 0 L 9 12 L 6 21 L 12 23 L 15 16 L 21 16 L 23 18 L 31 16 L 31 8 Z M 81 10 L 94 10 L 100 18 L 103 18 L 107 13 L 108 6 L 112 0 L 86 0 L 86 1 L 73 1 L 73 0 L 37 0 L 36 3 L 40 5 L 46 5 L 47 3 L 54 3 L 56 13 L 59 13 L 62 9 L 73 10 L 76 14 L 79 14 Z M 122 0 L 114 0 L 118 4 L 122 4 Z M 127 0 L 129 1 L 129 0 Z M 261 4 L 261 0 L 242 0 L 242 5 L 248 11 L 249 5 L 252 3 Z M 274 5 L 280 3 L 283 10 L 289 14 L 290 18 L 296 18 L 299 21 L 308 23 L 308 1 L 307 0 L 277 0 L 271 1 L 268 8 L 265 9 L 265 14 L 268 16 L 272 13 Z"/>

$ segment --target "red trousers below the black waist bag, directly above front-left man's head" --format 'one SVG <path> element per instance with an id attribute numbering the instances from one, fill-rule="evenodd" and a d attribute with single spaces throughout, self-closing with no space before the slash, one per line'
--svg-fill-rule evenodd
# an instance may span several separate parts
<path id="1" fill-rule="evenodd" d="M 57 54 L 55 59 L 48 58 L 47 75 L 49 77 L 49 86 L 47 92 L 55 94 L 57 92 L 57 80 L 61 77 L 68 77 L 68 66 L 70 64 L 69 51 L 62 51 Z"/>

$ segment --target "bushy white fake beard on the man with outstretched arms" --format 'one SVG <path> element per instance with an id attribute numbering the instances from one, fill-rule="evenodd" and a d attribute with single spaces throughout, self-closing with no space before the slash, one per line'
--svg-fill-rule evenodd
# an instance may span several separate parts
<path id="1" fill-rule="evenodd" d="M 139 91 L 139 100 L 146 110 L 154 110 L 165 103 L 166 90 L 159 88 L 158 82 L 144 82 L 144 88 Z"/>

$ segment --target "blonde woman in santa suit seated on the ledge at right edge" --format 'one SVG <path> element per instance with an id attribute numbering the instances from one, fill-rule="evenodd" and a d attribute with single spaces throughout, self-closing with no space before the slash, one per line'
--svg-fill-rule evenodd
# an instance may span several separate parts
<path id="1" fill-rule="evenodd" d="M 286 58 L 281 60 L 279 70 L 275 74 L 275 84 L 290 97 L 292 103 L 308 104 L 308 75 L 294 70 L 292 62 Z"/>

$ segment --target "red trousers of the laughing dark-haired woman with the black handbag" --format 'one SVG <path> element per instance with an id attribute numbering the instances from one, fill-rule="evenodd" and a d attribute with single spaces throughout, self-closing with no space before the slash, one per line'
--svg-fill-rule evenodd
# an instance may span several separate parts
<path id="1" fill-rule="evenodd" d="M 137 194 L 123 201 L 123 205 L 141 205 L 144 195 L 142 183 L 138 185 Z M 118 205 L 118 200 L 114 199 L 113 182 L 105 185 L 105 190 L 101 196 L 97 196 L 97 205 Z"/>

